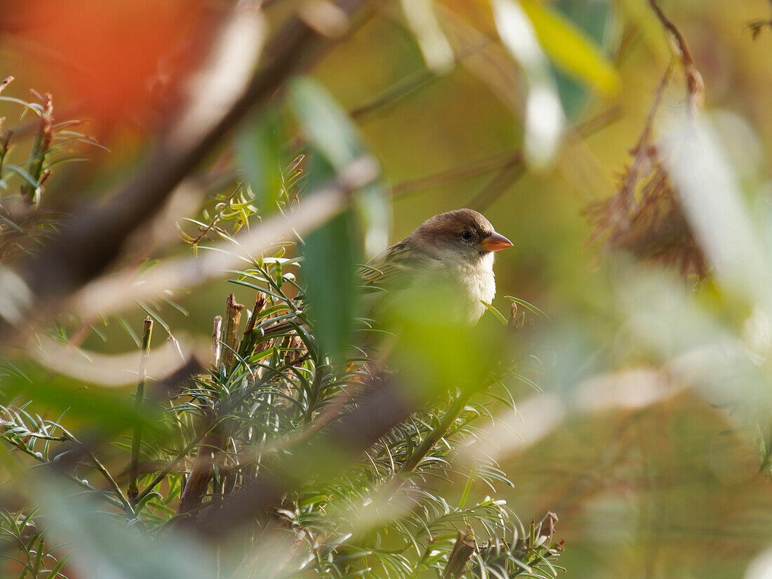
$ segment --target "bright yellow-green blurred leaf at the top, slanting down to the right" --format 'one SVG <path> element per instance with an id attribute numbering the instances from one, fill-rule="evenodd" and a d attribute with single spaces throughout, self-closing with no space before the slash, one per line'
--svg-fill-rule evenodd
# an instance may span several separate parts
<path id="1" fill-rule="evenodd" d="M 520 0 L 539 43 L 566 73 L 604 95 L 615 93 L 619 75 L 601 49 L 560 12 L 541 2 Z"/>

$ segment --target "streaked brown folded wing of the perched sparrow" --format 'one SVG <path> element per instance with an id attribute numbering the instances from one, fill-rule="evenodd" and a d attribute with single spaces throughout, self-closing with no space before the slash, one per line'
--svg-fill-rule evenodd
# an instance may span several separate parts
<path id="1" fill-rule="evenodd" d="M 411 286 L 415 276 L 425 273 L 436 262 L 431 256 L 415 251 L 411 239 L 394 243 L 361 268 L 365 291 L 398 290 Z"/>

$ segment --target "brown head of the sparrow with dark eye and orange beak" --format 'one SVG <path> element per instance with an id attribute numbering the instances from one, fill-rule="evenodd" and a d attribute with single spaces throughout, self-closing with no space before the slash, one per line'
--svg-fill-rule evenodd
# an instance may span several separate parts
<path id="1" fill-rule="evenodd" d="M 427 219 L 411 234 L 419 244 L 440 256 L 475 264 L 513 243 L 496 233 L 493 225 L 472 209 L 456 209 Z"/>

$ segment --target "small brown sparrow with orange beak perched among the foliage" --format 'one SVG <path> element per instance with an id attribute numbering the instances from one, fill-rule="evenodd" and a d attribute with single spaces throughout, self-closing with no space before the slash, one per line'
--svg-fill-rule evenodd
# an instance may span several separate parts
<path id="1" fill-rule="evenodd" d="M 408 237 L 367 263 L 369 287 L 388 289 L 388 306 L 398 306 L 405 290 L 424 290 L 422 300 L 444 297 L 439 307 L 452 320 L 476 323 L 496 295 L 494 253 L 512 242 L 472 209 L 456 209 L 427 219 Z M 442 294 L 442 296 L 440 295 Z"/>

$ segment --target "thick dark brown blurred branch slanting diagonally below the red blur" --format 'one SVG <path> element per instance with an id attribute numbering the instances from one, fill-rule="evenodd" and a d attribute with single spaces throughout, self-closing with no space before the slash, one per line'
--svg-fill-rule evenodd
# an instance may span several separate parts
<path id="1" fill-rule="evenodd" d="M 381 0 L 340 0 L 337 8 L 344 15 L 354 15 L 365 5 L 374 5 Z M 250 18 L 252 5 L 245 8 L 239 3 L 233 18 L 223 29 L 224 35 L 231 27 L 242 26 L 242 18 Z M 249 12 L 244 14 L 243 11 Z M 5 310 L 21 310 L 15 320 L 7 317 L 0 325 L 0 337 L 7 338 L 12 321 L 25 317 L 25 312 L 39 312 L 41 306 L 52 300 L 73 293 L 91 279 L 100 276 L 104 269 L 120 255 L 124 242 L 164 204 L 171 191 L 187 174 L 203 161 L 251 110 L 264 106 L 284 81 L 303 64 L 303 59 L 334 40 L 324 38 L 310 28 L 306 22 L 293 17 L 266 48 L 273 56 L 271 62 L 259 69 L 235 99 L 229 110 L 213 124 L 201 130 L 191 141 L 180 138 L 180 127 L 168 131 L 161 138 L 157 151 L 149 155 L 150 161 L 137 172 L 137 176 L 118 195 L 100 205 L 90 205 L 66 225 L 63 233 L 50 245 L 46 252 L 29 259 L 22 266 L 22 276 L 14 283 L 22 282 L 25 301 L 17 300 Z M 230 46 L 230 45 L 229 45 Z M 232 49 L 237 46 L 230 46 Z M 239 53 L 221 54 L 227 59 L 240 59 Z M 216 66 L 215 66 L 216 69 Z M 211 91 L 209 91 L 211 92 Z M 191 95 L 191 107 L 195 100 L 203 98 L 201 93 Z M 189 130 L 185 129 L 186 134 Z M 7 289 L 7 288 L 4 288 Z M 25 291 L 26 290 L 26 291 Z"/>

